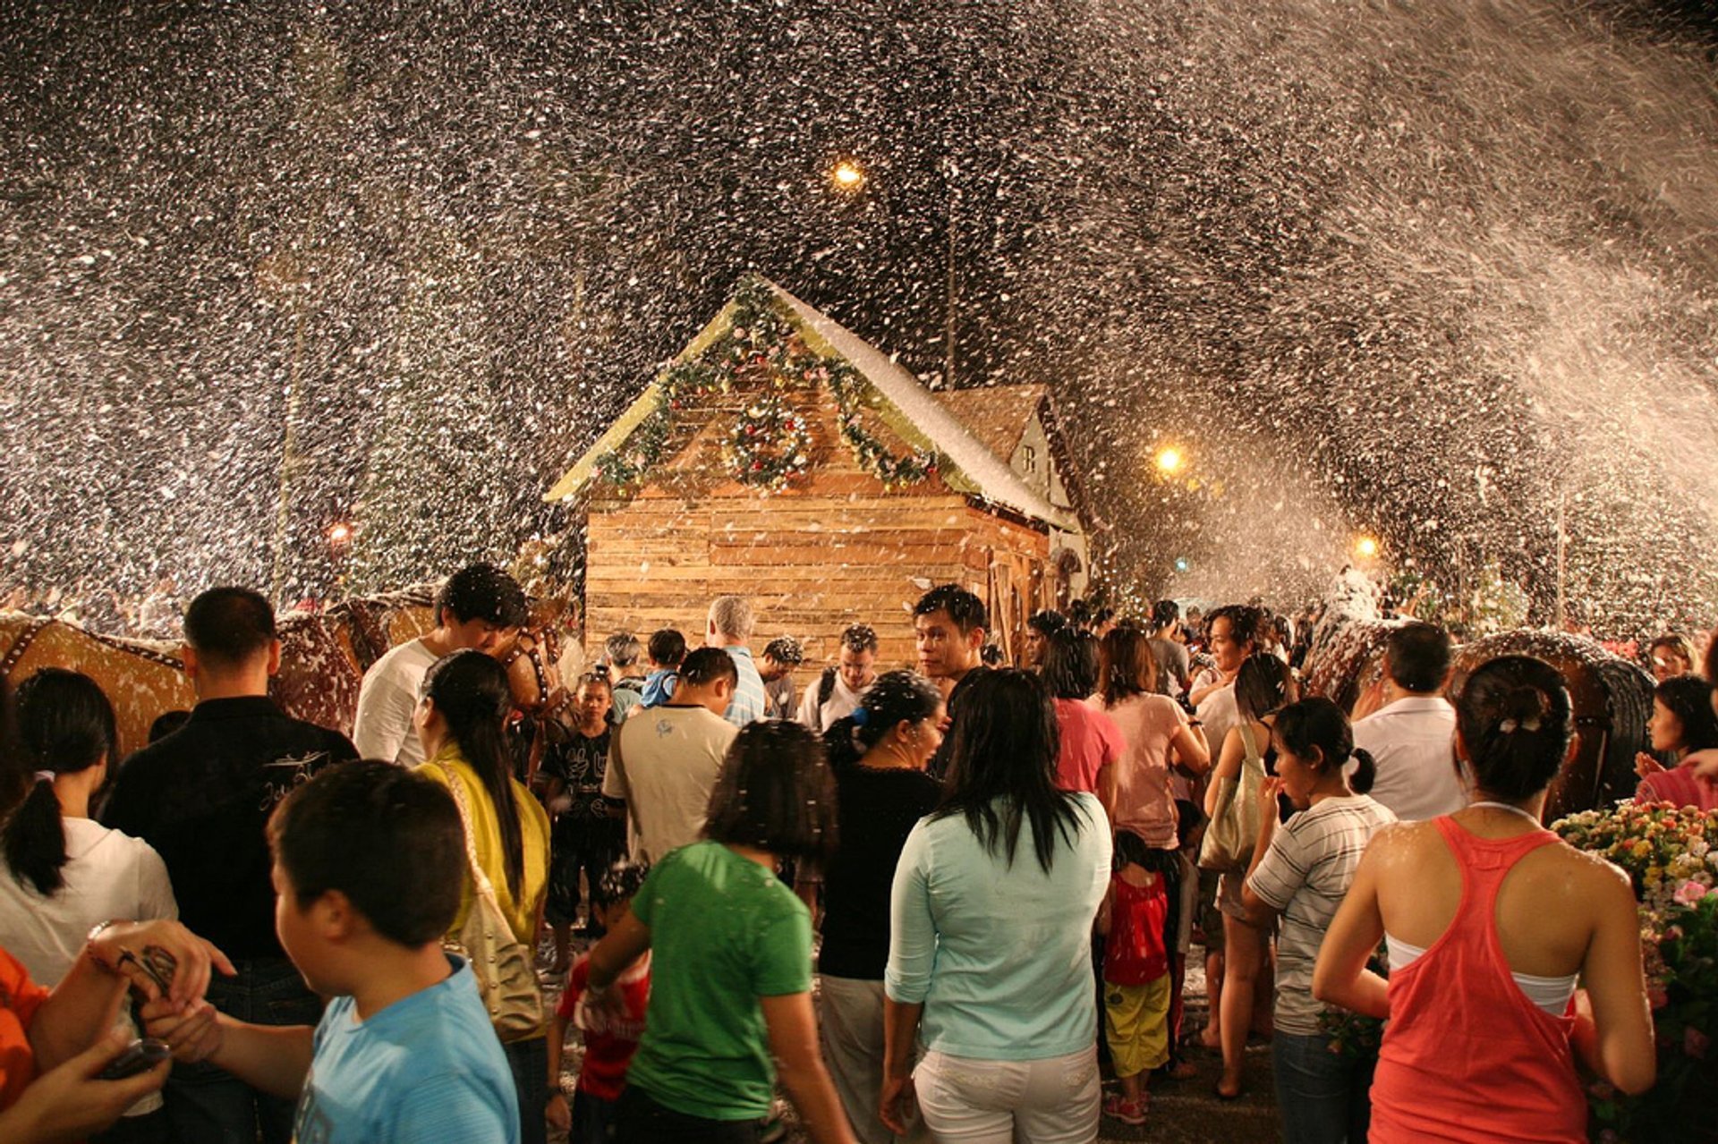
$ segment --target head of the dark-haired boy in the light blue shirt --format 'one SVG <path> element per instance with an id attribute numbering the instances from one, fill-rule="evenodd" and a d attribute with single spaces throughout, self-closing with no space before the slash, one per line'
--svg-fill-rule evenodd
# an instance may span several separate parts
<path id="1" fill-rule="evenodd" d="M 459 809 L 435 780 L 392 763 L 342 763 L 292 790 L 268 819 L 275 928 L 320 993 L 350 991 L 369 938 L 440 941 L 466 885 Z"/>

